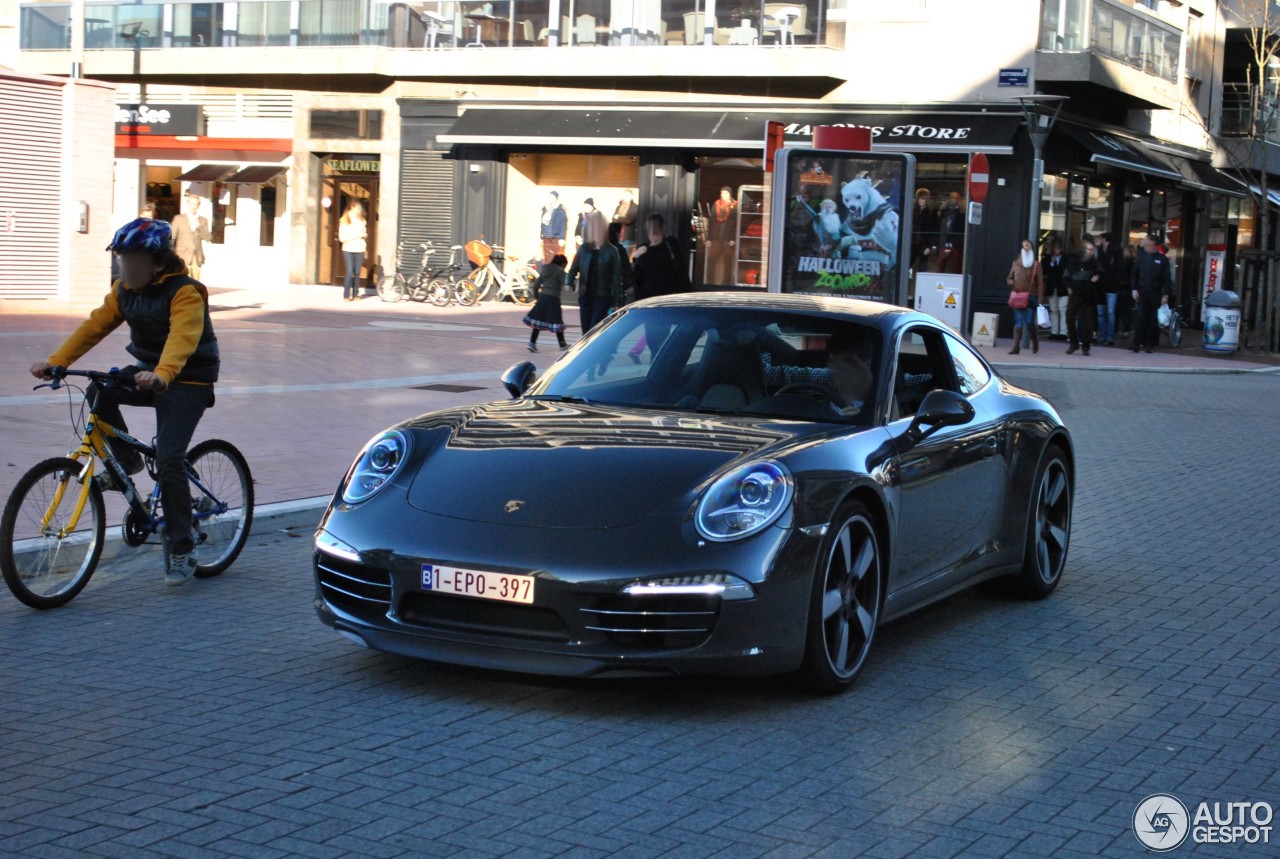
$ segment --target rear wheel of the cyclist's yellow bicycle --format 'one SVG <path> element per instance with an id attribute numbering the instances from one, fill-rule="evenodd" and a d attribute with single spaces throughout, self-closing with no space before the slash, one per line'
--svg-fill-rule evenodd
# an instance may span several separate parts
<path id="1" fill-rule="evenodd" d="M 232 566 L 253 524 L 253 479 L 230 442 L 206 439 L 187 452 L 196 577 L 209 579 Z"/>

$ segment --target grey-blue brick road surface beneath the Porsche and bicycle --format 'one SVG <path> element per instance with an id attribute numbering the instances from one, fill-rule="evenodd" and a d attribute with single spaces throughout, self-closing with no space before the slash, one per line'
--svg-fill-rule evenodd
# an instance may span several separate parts
<path id="1" fill-rule="evenodd" d="M 1011 375 L 1078 440 L 1062 586 L 886 627 L 842 698 L 361 650 L 302 529 L 0 599 L 0 855 L 1070 859 L 1139 855 L 1152 792 L 1280 805 L 1280 378 Z"/>

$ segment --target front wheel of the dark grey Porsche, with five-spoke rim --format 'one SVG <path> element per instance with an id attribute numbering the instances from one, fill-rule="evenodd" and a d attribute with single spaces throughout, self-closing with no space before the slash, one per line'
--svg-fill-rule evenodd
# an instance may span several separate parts
<path id="1" fill-rule="evenodd" d="M 884 602 L 886 558 L 864 504 L 840 508 L 818 557 L 800 681 L 833 695 L 852 686 L 867 663 Z"/>

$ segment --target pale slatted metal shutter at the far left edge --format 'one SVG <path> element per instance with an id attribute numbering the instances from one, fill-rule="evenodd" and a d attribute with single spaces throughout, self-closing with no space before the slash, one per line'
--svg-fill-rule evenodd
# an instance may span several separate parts
<path id="1" fill-rule="evenodd" d="M 63 87 L 0 77 L 0 298 L 56 298 Z"/>

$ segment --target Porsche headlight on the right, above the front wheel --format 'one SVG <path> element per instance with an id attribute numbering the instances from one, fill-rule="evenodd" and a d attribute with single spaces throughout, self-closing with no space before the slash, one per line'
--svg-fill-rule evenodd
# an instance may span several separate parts
<path id="1" fill-rule="evenodd" d="M 791 503 L 791 472 L 781 463 L 733 469 L 703 493 L 694 526 L 708 540 L 739 540 L 768 527 Z"/>

